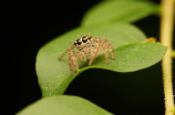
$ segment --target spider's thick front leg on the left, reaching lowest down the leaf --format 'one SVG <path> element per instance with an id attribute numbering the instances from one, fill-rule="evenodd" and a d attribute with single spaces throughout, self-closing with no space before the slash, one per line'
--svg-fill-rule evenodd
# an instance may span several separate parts
<path id="1" fill-rule="evenodd" d="M 70 63 L 70 70 L 72 72 L 72 74 L 74 74 L 72 65 L 75 67 L 76 71 L 79 71 L 79 67 L 78 67 L 78 64 L 76 64 L 75 61 L 76 61 L 76 59 L 74 56 L 74 51 L 70 50 L 70 52 L 69 52 L 69 63 Z"/>

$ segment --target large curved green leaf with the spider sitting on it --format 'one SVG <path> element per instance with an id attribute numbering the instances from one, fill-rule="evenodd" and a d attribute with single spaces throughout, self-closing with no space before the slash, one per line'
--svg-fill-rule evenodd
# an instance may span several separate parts
<path id="1" fill-rule="evenodd" d="M 91 66 L 87 62 L 79 61 L 80 71 L 72 76 L 68 54 L 59 61 L 58 58 L 73 42 L 91 33 L 92 36 L 105 38 L 116 48 L 115 60 L 106 65 L 105 56 L 100 55 Z M 42 46 L 37 56 L 37 74 L 42 96 L 63 94 L 72 80 L 81 72 L 91 67 L 106 69 L 116 72 L 133 72 L 148 67 L 163 58 L 166 48 L 159 43 L 141 43 L 146 36 L 135 27 L 127 23 L 107 23 L 97 27 L 76 28 Z M 89 67 L 87 67 L 89 66 Z"/>

